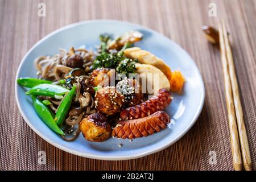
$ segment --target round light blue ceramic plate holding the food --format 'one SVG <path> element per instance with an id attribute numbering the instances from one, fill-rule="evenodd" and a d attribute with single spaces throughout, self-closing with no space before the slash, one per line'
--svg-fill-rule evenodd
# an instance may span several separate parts
<path id="1" fill-rule="evenodd" d="M 15 85 L 16 101 L 20 113 L 40 137 L 53 146 L 71 154 L 86 158 L 102 160 L 134 159 L 163 150 L 179 140 L 196 122 L 204 104 L 204 83 L 196 64 L 180 46 L 165 36 L 138 24 L 118 20 L 92 20 L 79 22 L 60 28 L 44 37 L 33 46 L 24 56 L 19 65 L 18 77 L 36 77 L 34 60 L 42 55 L 55 55 L 59 48 L 69 49 L 74 46 L 94 48 L 99 44 L 99 35 L 107 32 L 122 35 L 126 31 L 138 30 L 143 33 L 143 40 L 135 44 L 160 57 L 171 67 L 179 69 L 185 76 L 186 82 L 182 95 L 174 94 L 174 100 L 167 108 L 171 125 L 167 129 L 148 137 L 134 139 L 110 138 L 102 143 L 88 142 L 82 134 L 74 142 L 65 142 L 53 133 L 38 117 L 31 104 L 30 96 L 26 96 L 22 86 Z M 122 143 L 122 147 L 118 144 Z"/>

